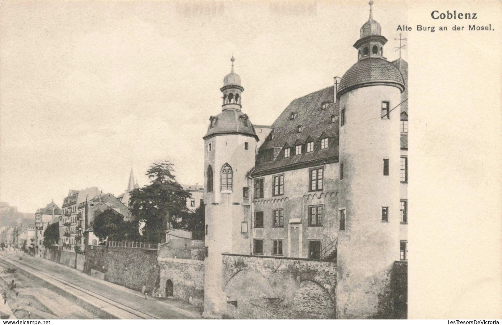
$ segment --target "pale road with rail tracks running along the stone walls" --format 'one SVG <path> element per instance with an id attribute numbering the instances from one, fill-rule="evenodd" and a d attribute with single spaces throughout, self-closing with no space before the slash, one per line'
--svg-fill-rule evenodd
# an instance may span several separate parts
<path id="1" fill-rule="evenodd" d="M 19 259 L 20 256 L 22 260 Z M 141 292 L 94 278 L 44 258 L 31 257 L 21 252 L 4 251 L 0 253 L 0 260 L 14 264 L 22 268 L 24 272 L 29 272 L 39 278 L 45 278 L 69 293 L 78 291 L 74 295 L 82 296 L 81 299 L 97 305 L 102 310 L 115 310 L 115 315 L 119 318 L 200 318 L 201 310 L 191 304 L 169 298 L 148 297 L 145 299 Z M 51 285 L 47 286 L 51 287 Z M 87 309 L 92 310 L 92 308 Z"/>

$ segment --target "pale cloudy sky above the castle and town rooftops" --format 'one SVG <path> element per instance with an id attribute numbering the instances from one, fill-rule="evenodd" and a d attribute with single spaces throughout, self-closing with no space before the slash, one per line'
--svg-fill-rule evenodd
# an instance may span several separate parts
<path id="1" fill-rule="evenodd" d="M 179 183 L 201 184 L 230 57 L 243 112 L 271 125 L 356 62 L 368 11 L 365 1 L 2 1 L 0 201 L 34 213 L 70 189 L 118 195 L 131 167 L 144 186 L 158 160 Z M 376 1 L 373 18 L 384 56 L 399 58 L 405 4 Z"/>

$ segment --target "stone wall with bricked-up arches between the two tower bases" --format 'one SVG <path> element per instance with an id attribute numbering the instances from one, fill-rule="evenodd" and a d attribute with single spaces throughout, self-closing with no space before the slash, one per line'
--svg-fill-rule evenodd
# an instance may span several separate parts
<path id="1" fill-rule="evenodd" d="M 335 318 L 336 263 L 223 254 L 223 316 L 239 319 Z"/>

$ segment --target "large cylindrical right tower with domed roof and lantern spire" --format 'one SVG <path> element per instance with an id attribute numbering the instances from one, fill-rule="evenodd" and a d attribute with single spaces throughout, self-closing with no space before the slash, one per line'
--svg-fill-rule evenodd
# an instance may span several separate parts
<path id="1" fill-rule="evenodd" d="M 399 260 L 400 108 L 404 80 L 384 57 L 387 39 L 369 19 L 354 44 L 357 62 L 337 89 L 339 230 L 337 318 L 389 312 L 390 275 Z M 396 108 L 396 110 L 393 110 Z"/>

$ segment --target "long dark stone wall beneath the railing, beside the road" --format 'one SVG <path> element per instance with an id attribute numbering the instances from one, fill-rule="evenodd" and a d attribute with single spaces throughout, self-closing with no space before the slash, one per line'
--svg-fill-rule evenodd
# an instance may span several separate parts
<path id="1" fill-rule="evenodd" d="M 84 272 L 94 276 L 104 273 L 106 281 L 138 291 L 145 284 L 150 294 L 158 290 L 160 280 L 157 250 L 142 248 L 88 245 Z"/>

